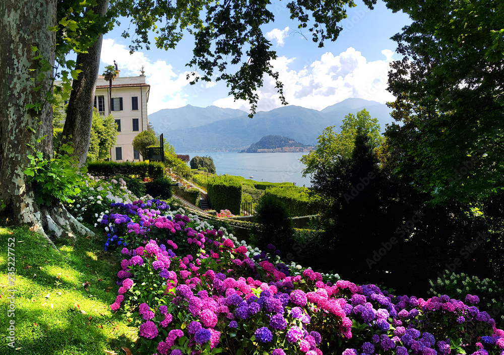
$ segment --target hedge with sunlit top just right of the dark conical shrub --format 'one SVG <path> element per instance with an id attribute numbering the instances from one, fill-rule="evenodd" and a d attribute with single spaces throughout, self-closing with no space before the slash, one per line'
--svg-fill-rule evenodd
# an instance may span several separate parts
<path id="1" fill-rule="evenodd" d="M 265 195 L 282 201 L 292 217 L 316 215 L 320 209 L 318 201 L 308 196 L 308 189 L 305 187 L 270 187 L 266 189 Z"/>

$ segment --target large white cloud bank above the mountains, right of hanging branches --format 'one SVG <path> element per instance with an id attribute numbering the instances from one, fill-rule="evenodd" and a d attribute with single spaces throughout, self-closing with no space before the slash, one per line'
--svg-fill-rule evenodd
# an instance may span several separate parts
<path id="1" fill-rule="evenodd" d="M 359 51 L 350 47 L 339 55 L 323 54 L 296 71 L 289 69 L 295 58 L 278 57 L 273 61 L 275 70 L 284 84 L 284 95 L 290 105 L 321 110 L 348 98 L 361 98 L 381 103 L 393 101 L 387 89 L 387 74 L 394 52 L 382 51 L 384 60 L 368 62 Z M 258 111 L 269 111 L 281 105 L 275 81 L 265 77 L 264 86 L 258 90 Z M 214 102 L 220 107 L 248 110 L 244 101 L 233 102 L 232 98 Z"/>

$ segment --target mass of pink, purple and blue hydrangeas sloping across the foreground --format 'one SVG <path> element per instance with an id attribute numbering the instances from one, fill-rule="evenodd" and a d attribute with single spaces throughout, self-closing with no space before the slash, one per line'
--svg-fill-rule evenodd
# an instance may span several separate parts
<path id="1" fill-rule="evenodd" d="M 160 200 L 114 202 L 98 223 L 123 255 L 110 307 L 132 315 L 139 353 L 504 355 L 477 296 L 332 283 Z"/>

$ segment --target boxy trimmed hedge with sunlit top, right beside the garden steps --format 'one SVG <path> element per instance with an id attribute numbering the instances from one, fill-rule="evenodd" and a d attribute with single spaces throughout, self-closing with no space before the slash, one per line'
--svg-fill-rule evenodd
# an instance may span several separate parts
<path id="1" fill-rule="evenodd" d="M 229 209 L 233 215 L 240 215 L 241 184 L 233 176 L 222 175 L 208 179 L 207 192 L 213 209 Z"/>

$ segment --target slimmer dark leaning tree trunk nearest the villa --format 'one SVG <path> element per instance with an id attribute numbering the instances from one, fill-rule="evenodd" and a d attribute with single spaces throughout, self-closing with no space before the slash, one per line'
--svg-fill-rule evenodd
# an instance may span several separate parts
<path id="1" fill-rule="evenodd" d="M 109 0 L 98 0 L 97 3 L 97 6 L 93 9 L 94 13 L 100 17 L 105 16 Z M 100 35 L 87 53 L 77 55 L 76 69 L 81 69 L 82 72 L 72 84 L 67 118 L 61 134 L 61 144 L 73 143 L 74 155 L 79 158 L 79 166 L 86 162 L 89 150 L 93 99 L 100 66 L 102 42 L 103 35 Z"/>

